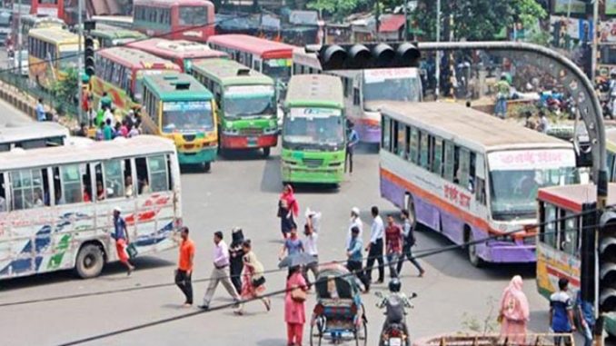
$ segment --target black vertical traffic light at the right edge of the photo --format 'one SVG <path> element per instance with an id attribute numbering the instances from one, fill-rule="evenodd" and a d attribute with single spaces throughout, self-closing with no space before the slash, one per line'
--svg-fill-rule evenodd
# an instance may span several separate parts
<path id="1" fill-rule="evenodd" d="M 606 211 L 599 222 L 599 311 L 616 311 L 616 213 Z"/>

